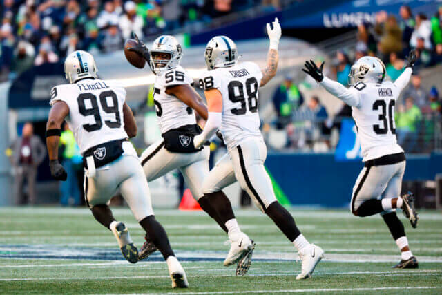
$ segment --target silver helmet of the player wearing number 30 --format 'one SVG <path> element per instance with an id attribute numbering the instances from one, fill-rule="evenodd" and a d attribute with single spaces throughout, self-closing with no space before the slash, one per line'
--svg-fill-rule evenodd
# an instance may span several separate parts
<path id="1" fill-rule="evenodd" d="M 350 86 L 358 82 L 381 84 L 385 78 L 385 65 L 378 57 L 361 57 L 358 59 L 348 75 Z"/>

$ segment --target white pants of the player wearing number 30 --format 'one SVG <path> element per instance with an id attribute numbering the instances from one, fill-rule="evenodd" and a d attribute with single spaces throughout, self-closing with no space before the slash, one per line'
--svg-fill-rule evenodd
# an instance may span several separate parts
<path id="1" fill-rule="evenodd" d="M 400 196 L 403 173 L 405 173 L 405 161 L 390 165 L 364 167 L 353 187 L 352 212 L 356 211 L 366 200 L 392 199 Z M 392 211 L 394 209 L 383 213 Z"/>

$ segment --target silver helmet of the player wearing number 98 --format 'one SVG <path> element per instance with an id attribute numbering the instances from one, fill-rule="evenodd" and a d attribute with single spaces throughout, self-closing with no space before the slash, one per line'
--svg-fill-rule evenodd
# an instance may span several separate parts
<path id="1" fill-rule="evenodd" d="M 204 52 L 207 70 L 234 66 L 239 58 L 235 42 L 227 36 L 213 37 Z"/>

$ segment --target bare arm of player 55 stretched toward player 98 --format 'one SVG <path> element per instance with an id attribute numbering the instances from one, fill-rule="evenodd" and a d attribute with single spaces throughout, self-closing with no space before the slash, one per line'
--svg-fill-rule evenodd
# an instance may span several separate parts
<path id="1" fill-rule="evenodd" d="M 208 112 L 206 104 L 204 104 L 200 95 L 189 84 L 170 86 L 166 88 L 166 93 L 175 95 L 177 99 L 180 99 L 184 104 L 193 108 L 198 115 L 204 120 L 207 120 Z"/>

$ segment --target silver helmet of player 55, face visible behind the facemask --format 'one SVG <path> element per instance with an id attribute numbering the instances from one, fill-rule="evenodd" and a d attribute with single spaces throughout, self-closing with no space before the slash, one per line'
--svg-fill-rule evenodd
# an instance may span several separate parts
<path id="1" fill-rule="evenodd" d="M 155 75 L 162 75 L 165 70 L 176 68 L 182 59 L 182 48 L 177 39 L 171 35 L 162 35 L 155 39 L 149 50 L 149 66 Z M 155 55 L 167 54 L 170 59 L 155 59 Z"/>

